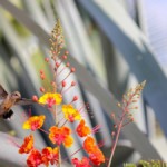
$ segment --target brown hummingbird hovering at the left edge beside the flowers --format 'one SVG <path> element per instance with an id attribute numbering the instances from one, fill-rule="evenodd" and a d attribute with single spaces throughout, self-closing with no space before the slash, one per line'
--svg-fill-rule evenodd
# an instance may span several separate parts
<path id="1" fill-rule="evenodd" d="M 31 99 L 21 98 L 19 91 L 8 94 L 2 85 L 0 85 L 0 118 L 9 119 L 13 115 L 12 106 L 14 105 L 31 105 L 35 101 Z"/>

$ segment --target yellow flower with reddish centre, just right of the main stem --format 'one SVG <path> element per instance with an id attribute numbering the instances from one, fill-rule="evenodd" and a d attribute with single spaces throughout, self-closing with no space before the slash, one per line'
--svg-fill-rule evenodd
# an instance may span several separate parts
<path id="1" fill-rule="evenodd" d="M 80 112 L 72 105 L 63 105 L 62 112 L 65 114 L 65 118 L 70 122 L 81 119 Z"/>

